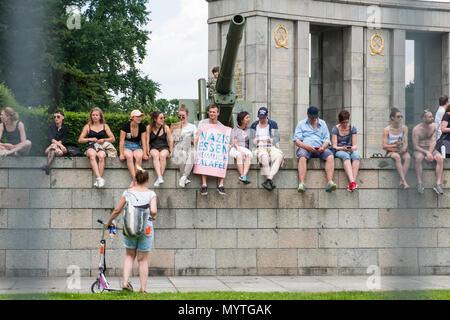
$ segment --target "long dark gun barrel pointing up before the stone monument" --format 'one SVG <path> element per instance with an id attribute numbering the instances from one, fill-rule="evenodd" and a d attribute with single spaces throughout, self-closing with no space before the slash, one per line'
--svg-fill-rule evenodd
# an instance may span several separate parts
<path id="1" fill-rule="evenodd" d="M 228 94 L 232 90 L 234 65 L 238 54 L 239 44 L 244 33 L 245 18 L 235 15 L 230 21 L 227 34 L 227 43 L 223 53 L 222 64 L 220 65 L 219 76 L 217 78 L 216 92 Z"/>

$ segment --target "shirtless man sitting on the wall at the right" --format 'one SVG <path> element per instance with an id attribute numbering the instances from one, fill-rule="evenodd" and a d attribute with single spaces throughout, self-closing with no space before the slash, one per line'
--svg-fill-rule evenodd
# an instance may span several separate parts
<path id="1" fill-rule="evenodd" d="M 431 163 L 436 161 L 436 184 L 433 190 L 437 194 L 443 194 L 441 186 L 442 172 L 444 168 L 444 160 L 442 155 L 435 150 L 436 146 L 437 125 L 434 123 L 431 111 L 425 110 L 422 115 L 422 122 L 414 127 L 412 131 L 412 140 L 414 146 L 414 159 L 417 175 L 417 192 L 424 193 L 422 183 L 422 161 Z"/>

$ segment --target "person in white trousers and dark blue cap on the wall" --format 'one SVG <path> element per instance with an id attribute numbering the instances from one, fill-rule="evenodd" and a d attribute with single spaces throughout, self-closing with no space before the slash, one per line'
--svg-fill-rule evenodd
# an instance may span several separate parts
<path id="1" fill-rule="evenodd" d="M 264 189 L 272 191 L 276 188 L 272 179 L 284 160 L 283 152 L 276 147 L 280 141 L 278 124 L 269 119 L 269 110 L 261 107 L 258 110 L 258 120 L 252 123 L 250 129 L 251 148 L 258 163 L 262 165 L 263 175 L 266 176 L 261 185 Z"/>

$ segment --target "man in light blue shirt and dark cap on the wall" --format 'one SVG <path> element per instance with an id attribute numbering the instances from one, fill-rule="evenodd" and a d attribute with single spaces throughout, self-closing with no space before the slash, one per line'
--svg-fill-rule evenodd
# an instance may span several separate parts
<path id="1" fill-rule="evenodd" d="M 330 132 L 325 121 L 319 119 L 317 107 L 309 107 L 307 114 L 308 117 L 297 124 L 293 138 L 298 147 L 298 192 L 306 191 L 306 167 L 310 158 L 320 158 L 325 161 L 325 173 L 328 181 L 325 191 L 332 192 L 336 190 L 336 184 L 333 182 L 334 156 L 328 149 L 328 145 L 331 143 Z"/>

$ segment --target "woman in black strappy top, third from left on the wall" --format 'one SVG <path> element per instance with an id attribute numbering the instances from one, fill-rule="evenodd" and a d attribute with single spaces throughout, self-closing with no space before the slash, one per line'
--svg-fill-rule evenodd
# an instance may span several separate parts
<path id="1" fill-rule="evenodd" d="M 103 150 L 97 152 L 94 145 L 95 143 L 103 144 L 104 142 L 114 143 L 114 141 L 116 141 L 116 138 L 106 124 L 102 110 L 97 107 L 93 108 L 89 113 L 89 123 L 83 127 L 78 143 L 89 143 L 86 156 L 89 157 L 92 171 L 96 177 L 94 182 L 94 187 L 96 188 L 102 188 L 105 185 L 105 179 L 102 176 L 105 168 L 106 152 Z"/>

